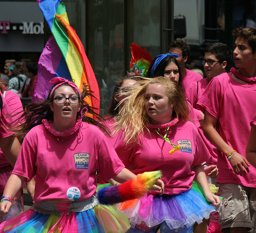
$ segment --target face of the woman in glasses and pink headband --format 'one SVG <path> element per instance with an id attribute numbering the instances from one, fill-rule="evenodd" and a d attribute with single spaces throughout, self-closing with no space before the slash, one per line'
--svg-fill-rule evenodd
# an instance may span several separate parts
<path id="1" fill-rule="evenodd" d="M 71 86 L 60 86 L 54 91 L 53 99 L 56 97 L 78 97 L 76 91 Z M 63 104 L 58 104 L 56 100 L 53 100 L 50 104 L 50 108 L 54 115 L 54 124 L 56 122 L 61 123 L 63 121 L 76 122 L 76 114 L 80 111 L 81 103 L 71 104 L 70 100 L 66 100 Z M 66 122 L 65 122 L 66 123 Z"/>

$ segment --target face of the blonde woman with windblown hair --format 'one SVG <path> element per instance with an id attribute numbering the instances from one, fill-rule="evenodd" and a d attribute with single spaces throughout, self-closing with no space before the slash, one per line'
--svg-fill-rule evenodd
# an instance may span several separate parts
<path id="1" fill-rule="evenodd" d="M 161 84 L 150 84 L 145 94 L 145 107 L 154 124 L 171 121 L 173 105 L 170 104 L 166 90 Z"/>

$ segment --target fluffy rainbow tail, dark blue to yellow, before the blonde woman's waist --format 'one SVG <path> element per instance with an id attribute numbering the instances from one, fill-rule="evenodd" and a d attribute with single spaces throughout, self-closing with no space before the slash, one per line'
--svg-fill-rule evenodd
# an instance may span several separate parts
<path id="1" fill-rule="evenodd" d="M 142 197 L 161 176 L 161 171 L 144 172 L 120 185 L 99 189 L 97 193 L 99 203 L 102 205 L 114 205 Z"/>

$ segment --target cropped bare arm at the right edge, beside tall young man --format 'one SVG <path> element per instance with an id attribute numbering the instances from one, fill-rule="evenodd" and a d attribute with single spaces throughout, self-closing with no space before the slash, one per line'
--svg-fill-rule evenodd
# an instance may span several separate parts
<path id="1" fill-rule="evenodd" d="M 256 167 L 256 125 L 252 125 L 245 152 L 246 159 Z"/>

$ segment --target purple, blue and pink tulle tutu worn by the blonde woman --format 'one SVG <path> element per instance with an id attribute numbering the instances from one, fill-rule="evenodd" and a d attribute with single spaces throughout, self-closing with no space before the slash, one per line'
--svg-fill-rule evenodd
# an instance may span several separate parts
<path id="1" fill-rule="evenodd" d="M 131 227 L 142 229 L 155 227 L 166 222 L 170 229 L 182 226 L 190 227 L 195 222 L 208 218 L 215 208 L 206 203 L 206 199 L 194 183 L 192 189 L 177 195 L 152 195 L 118 204 L 118 209 L 130 219 Z"/>

